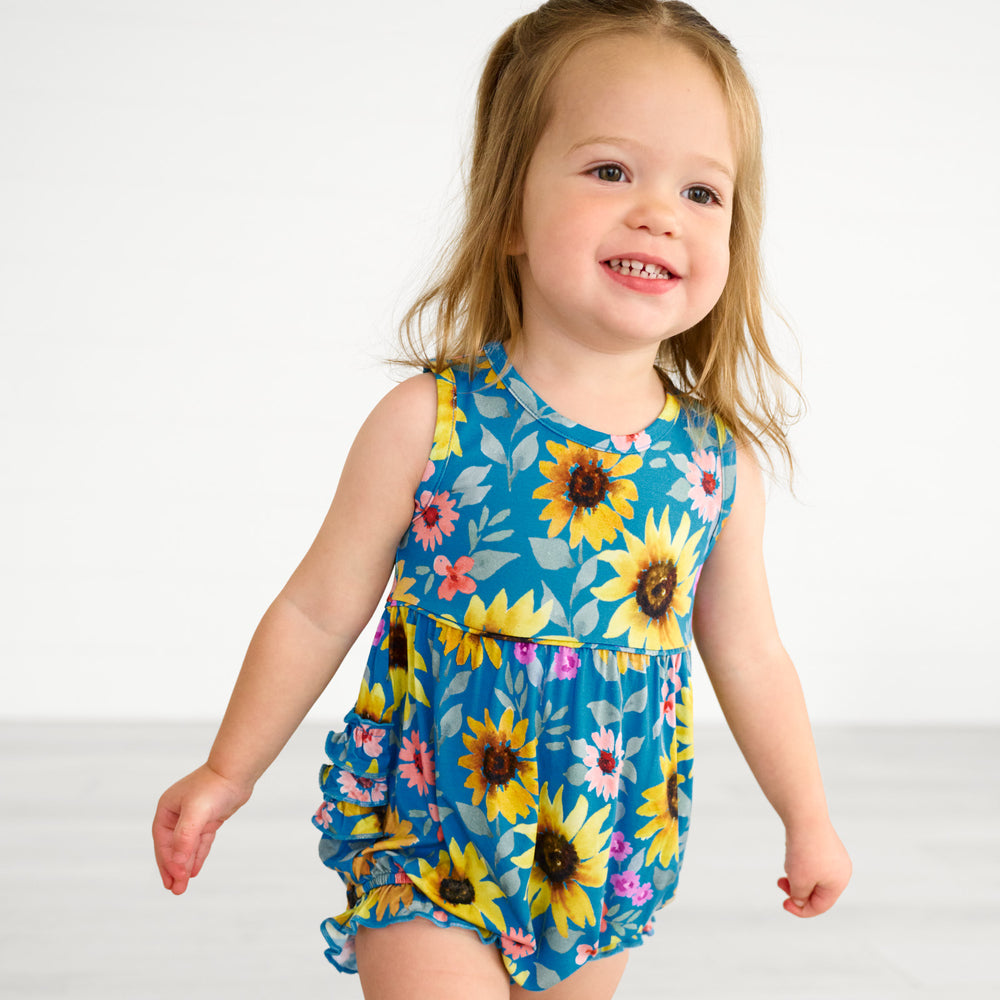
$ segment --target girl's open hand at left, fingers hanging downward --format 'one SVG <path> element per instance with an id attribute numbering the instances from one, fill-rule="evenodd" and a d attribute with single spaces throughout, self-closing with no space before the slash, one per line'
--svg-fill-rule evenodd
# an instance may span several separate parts
<path id="1" fill-rule="evenodd" d="M 252 791 L 205 764 L 163 793 L 153 818 L 153 848 L 165 889 L 184 892 L 201 871 L 216 831 Z"/>

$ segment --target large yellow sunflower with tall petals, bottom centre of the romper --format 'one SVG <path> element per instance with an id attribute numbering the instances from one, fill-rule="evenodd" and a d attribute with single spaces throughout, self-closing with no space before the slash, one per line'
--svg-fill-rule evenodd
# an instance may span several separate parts
<path id="1" fill-rule="evenodd" d="M 601 829 L 611 803 L 588 818 L 587 797 L 581 795 L 568 816 L 563 816 L 562 786 L 554 799 L 548 784 L 542 785 L 538 800 L 538 826 L 522 824 L 515 829 L 534 836 L 535 843 L 513 859 L 526 868 L 529 864 L 528 896 L 531 915 L 551 910 L 559 933 L 565 937 L 570 923 L 583 927 L 595 923 L 588 888 L 604 885 L 611 852 L 611 827 Z"/>

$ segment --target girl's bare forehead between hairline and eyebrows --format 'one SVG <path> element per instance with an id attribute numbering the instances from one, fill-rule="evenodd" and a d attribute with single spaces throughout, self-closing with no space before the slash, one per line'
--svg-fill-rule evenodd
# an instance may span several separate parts
<path id="1" fill-rule="evenodd" d="M 585 42 L 556 73 L 543 142 L 621 137 L 735 168 L 729 108 L 712 70 L 679 42 L 616 35 Z"/>

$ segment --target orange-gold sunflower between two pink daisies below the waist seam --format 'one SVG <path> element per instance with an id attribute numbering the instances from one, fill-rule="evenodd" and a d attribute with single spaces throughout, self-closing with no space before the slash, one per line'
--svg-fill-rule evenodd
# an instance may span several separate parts
<path id="1" fill-rule="evenodd" d="M 524 742 L 528 720 L 512 725 L 514 711 L 508 708 L 498 726 L 493 725 L 489 711 L 481 723 L 471 716 L 466 721 L 473 735 L 462 734 L 469 753 L 459 757 L 458 763 L 469 769 L 465 787 L 473 790 L 472 804 L 478 806 L 485 797 L 486 818 L 491 822 L 497 813 L 512 823 L 518 816 L 527 816 L 538 792 L 537 741 Z"/>

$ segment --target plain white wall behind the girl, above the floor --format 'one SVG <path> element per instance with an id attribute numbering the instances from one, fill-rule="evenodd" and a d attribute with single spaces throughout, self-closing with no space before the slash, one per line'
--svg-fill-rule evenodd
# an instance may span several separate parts
<path id="1" fill-rule="evenodd" d="M 0 715 L 221 715 L 532 6 L 0 0 Z M 997 7 L 700 9 L 765 116 L 810 402 L 767 554 L 813 717 L 996 722 Z"/>

